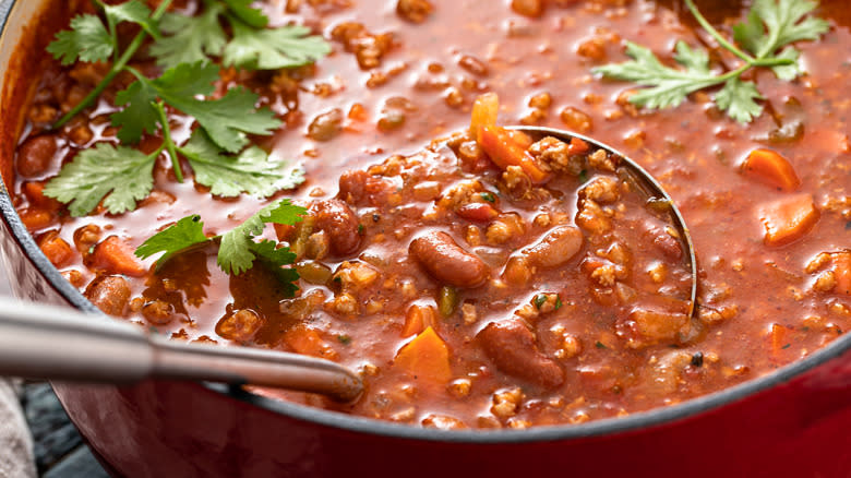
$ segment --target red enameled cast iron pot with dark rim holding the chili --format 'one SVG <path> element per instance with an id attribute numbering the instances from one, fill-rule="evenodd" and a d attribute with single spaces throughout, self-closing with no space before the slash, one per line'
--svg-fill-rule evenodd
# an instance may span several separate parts
<path id="1" fill-rule="evenodd" d="M 14 51 L 40 51 L 50 33 L 39 25 L 62 16 L 64 4 L 0 0 L 7 181 L 27 79 L 37 77 L 38 63 Z M 96 311 L 41 254 L 4 188 L 0 212 L 14 294 Z M 851 334 L 771 374 L 681 405 L 516 431 L 418 429 L 201 383 L 53 389 L 115 476 L 851 476 Z"/>

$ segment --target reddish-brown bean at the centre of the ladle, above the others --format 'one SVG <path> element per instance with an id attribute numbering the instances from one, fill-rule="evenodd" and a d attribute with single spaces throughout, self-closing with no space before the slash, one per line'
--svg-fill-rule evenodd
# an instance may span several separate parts
<path id="1" fill-rule="evenodd" d="M 446 232 L 432 231 L 411 241 L 408 253 L 435 279 L 455 287 L 478 287 L 490 271 Z"/>

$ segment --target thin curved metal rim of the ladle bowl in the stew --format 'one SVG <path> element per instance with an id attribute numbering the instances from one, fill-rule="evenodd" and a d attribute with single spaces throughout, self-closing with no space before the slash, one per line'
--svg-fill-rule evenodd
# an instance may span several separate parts
<path id="1" fill-rule="evenodd" d="M 692 236 L 688 234 L 688 227 L 685 225 L 683 215 L 680 213 L 680 210 L 676 208 L 676 205 L 668 192 L 662 188 L 661 184 L 659 184 L 659 181 L 657 181 L 652 175 L 647 172 L 647 170 L 640 167 L 637 163 L 630 159 L 628 156 L 606 143 L 600 143 L 599 141 L 588 136 L 564 130 L 556 130 L 554 128 L 508 127 L 508 129 L 523 131 L 524 133 L 532 136 L 535 141 L 541 140 L 546 136 L 552 136 L 565 143 L 570 143 L 571 139 L 578 138 L 579 140 L 583 140 L 592 146 L 608 152 L 610 156 L 618 157 L 618 166 L 623 168 L 623 171 L 630 175 L 632 182 L 636 184 L 642 190 L 640 193 L 647 198 L 648 204 L 652 202 L 654 211 L 664 213 L 668 216 L 668 223 L 680 235 L 680 237 L 675 239 L 678 239 L 681 247 L 683 248 L 683 251 L 685 251 L 684 262 L 686 265 L 688 265 L 692 275 L 692 290 L 688 299 L 688 316 L 692 316 L 692 314 L 694 314 L 697 299 L 697 258 L 695 256 L 694 242 L 692 242 Z"/>

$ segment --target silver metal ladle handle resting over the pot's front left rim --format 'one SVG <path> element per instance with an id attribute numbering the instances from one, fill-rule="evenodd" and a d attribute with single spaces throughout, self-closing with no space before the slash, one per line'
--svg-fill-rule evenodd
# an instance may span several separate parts
<path id="1" fill-rule="evenodd" d="M 363 384 L 329 360 L 276 350 L 187 344 L 73 309 L 0 298 L 0 375 L 81 382 L 145 379 L 252 384 L 355 399 Z"/>

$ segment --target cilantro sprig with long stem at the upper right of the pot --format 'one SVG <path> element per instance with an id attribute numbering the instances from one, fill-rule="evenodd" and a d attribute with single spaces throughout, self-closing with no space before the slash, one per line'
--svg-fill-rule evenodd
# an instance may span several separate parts
<path id="1" fill-rule="evenodd" d="M 780 80 L 794 80 L 803 70 L 799 63 L 801 52 L 791 45 L 816 40 L 830 27 L 826 21 L 810 16 L 818 7 L 816 1 L 755 0 L 747 20 L 733 26 L 736 46 L 700 14 L 693 0 L 685 0 L 685 4 L 697 23 L 741 60 L 741 65 L 716 73 L 710 69 L 706 50 L 693 49 L 680 40 L 674 47 L 674 61 L 681 68 L 671 68 L 648 48 L 627 41 L 626 55 L 631 61 L 599 67 L 594 72 L 645 86 L 630 101 L 650 109 L 676 107 L 694 92 L 721 85 L 715 94 L 716 105 L 730 118 L 746 123 L 762 115 L 763 107 L 757 101 L 765 98 L 753 81 L 742 80 L 742 74 L 753 68 L 769 68 Z"/>

